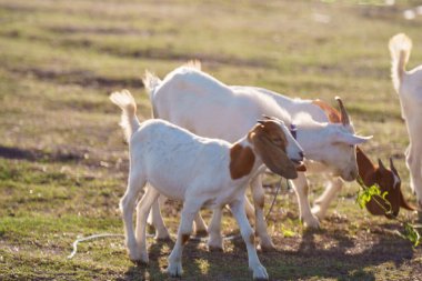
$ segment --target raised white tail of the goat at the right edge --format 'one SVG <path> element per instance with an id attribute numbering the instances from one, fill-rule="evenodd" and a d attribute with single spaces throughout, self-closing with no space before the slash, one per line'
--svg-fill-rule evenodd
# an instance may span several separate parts
<path id="1" fill-rule="evenodd" d="M 412 50 L 412 40 L 404 33 L 399 33 L 390 39 L 389 49 L 391 53 L 391 78 L 395 91 L 399 92 L 405 72 L 404 68 Z"/>

